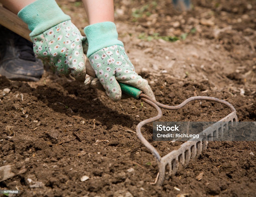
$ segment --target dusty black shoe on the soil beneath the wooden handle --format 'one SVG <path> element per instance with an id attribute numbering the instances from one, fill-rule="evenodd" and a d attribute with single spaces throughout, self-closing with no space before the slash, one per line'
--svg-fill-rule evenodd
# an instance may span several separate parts
<path id="1" fill-rule="evenodd" d="M 0 26 L 0 75 L 11 80 L 38 81 L 44 73 L 33 44 Z"/>

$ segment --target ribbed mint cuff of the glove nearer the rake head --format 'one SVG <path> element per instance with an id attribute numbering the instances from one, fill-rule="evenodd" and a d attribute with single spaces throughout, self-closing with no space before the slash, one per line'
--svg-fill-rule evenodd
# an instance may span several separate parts
<path id="1" fill-rule="evenodd" d="M 118 33 L 113 22 L 100 22 L 89 25 L 84 28 L 84 33 L 89 43 L 87 57 L 105 47 L 113 45 L 124 46 L 118 40 Z"/>

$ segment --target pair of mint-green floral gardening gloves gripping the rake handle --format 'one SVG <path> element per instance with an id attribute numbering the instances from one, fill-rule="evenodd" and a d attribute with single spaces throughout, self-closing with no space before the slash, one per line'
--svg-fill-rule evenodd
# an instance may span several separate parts
<path id="1" fill-rule="evenodd" d="M 155 99 L 147 80 L 139 76 L 125 53 L 113 22 L 84 28 L 86 37 L 54 0 L 37 0 L 19 11 L 18 17 L 32 31 L 35 56 L 55 67 L 59 74 L 73 74 L 76 80 L 105 90 L 114 102 L 121 99 L 119 82 L 130 84 Z M 87 54 L 97 78 L 86 77 L 83 54 Z"/>

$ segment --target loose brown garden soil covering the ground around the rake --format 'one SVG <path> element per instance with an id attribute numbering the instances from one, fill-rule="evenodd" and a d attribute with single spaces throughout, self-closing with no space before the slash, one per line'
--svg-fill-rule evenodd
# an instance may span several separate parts
<path id="1" fill-rule="evenodd" d="M 83 33 L 82 2 L 57 3 Z M 115 1 L 127 55 L 157 101 L 177 105 L 214 96 L 230 102 L 239 121 L 255 121 L 256 1 L 191 3 L 180 12 L 171 1 Z M 197 160 L 156 187 L 150 184 L 156 162 L 134 132 L 156 114 L 152 107 L 134 99 L 112 103 L 51 70 L 38 82 L 2 76 L 0 93 L 0 165 L 12 164 L 17 173 L 0 182 L 2 189 L 20 189 L 21 196 L 256 195 L 255 142 L 209 142 Z M 218 121 L 228 114 L 223 105 L 202 101 L 163 110 L 161 121 Z M 152 124 L 142 129 L 161 156 L 179 147 L 152 141 L 152 131 Z M 83 176 L 89 179 L 82 182 Z"/>

